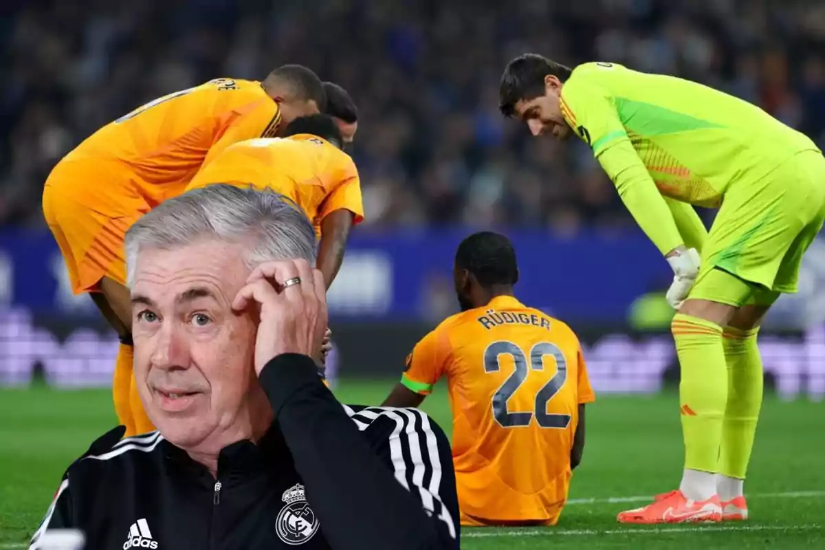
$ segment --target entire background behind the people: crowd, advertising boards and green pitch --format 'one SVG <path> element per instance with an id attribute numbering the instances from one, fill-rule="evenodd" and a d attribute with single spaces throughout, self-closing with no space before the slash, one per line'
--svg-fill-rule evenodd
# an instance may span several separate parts
<path id="1" fill-rule="evenodd" d="M 599 397 L 559 528 L 465 530 L 463 547 L 547 548 L 558 534 L 559 549 L 821 548 L 825 239 L 805 258 L 801 292 L 781 299 L 762 331 L 775 391 L 747 483 L 755 523 L 620 529 L 615 513 L 671 488 L 682 458 L 666 387 L 677 378 L 669 270 L 587 148 L 529 139 L 499 115 L 497 84 L 524 51 L 624 62 L 753 101 L 823 145 L 822 2 L 26 0 L 5 2 L 2 15 L 3 550 L 27 548 L 61 472 L 114 421 L 115 335 L 68 289 L 40 213 L 50 168 L 145 101 L 210 78 L 262 78 L 282 63 L 342 84 L 360 108 L 353 156 L 367 222 L 330 293 L 342 401 L 380 402 L 415 341 L 455 312 L 452 256 L 479 228 L 512 237 L 518 296 L 584 342 Z M 424 408 L 450 431 L 444 388 Z"/>

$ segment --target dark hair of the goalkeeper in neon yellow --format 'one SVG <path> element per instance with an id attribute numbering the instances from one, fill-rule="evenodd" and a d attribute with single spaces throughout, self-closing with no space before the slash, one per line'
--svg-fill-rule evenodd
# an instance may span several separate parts
<path id="1" fill-rule="evenodd" d="M 539 54 L 523 54 L 507 63 L 498 88 L 498 108 L 502 115 L 516 113 L 516 103 L 544 96 L 544 77 L 553 75 L 564 82 L 573 70 Z"/>

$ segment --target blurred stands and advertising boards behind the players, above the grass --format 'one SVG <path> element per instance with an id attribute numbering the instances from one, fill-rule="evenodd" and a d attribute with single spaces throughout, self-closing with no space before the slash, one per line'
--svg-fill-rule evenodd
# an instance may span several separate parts
<path id="1" fill-rule="evenodd" d="M 26 384 L 32 372 L 58 385 L 109 382 L 115 336 L 87 296 L 71 294 L 40 212 L 54 162 L 167 92 L 304 63 L 346 87 L 360 108 L 353 156 L 367 222 L 330 296 L 333 363 L 342 375 L 394 378 L 417 338 L 455 312 L 458 242 L 498 228 L 516 245 L 518 296 L 580 332 L 596 389 L 656 391 L 663 374 L 676 373 L 661 294 L 667 264 L 587 148 L 529 139 L 502 119 L 499 75 L 524 50 L 568 64 L 624 62 L 732 92 L 823 143 L 825 7 L 791 3 L 152 0 L 7 8 L 0 384 Z M 768 320 L 763 353 L 782 393 L 819 397 L 825 241 L 808 254 L 802 287 Z"/>

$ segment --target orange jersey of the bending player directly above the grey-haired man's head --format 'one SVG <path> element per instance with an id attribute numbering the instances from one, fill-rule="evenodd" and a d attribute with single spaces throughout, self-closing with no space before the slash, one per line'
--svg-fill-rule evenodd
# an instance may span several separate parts
<path id="1" fill-rule="evenodd" d="M 364 219 L 355 162 L 310 134 L 235 143 L 205 164 L 186 190 L 212 183 L 276 190 L 304 210 L 318 236 L 322 220 L 333 210 L 349 210 L 355 216 L 353 224 Z"/>

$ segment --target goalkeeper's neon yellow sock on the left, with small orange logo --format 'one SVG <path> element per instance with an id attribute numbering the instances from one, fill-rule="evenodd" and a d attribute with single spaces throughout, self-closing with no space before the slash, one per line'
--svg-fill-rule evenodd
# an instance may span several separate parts
<path id="1" fill-rule="evenodd" d="M 681 366 L 679 400 L 685 468 L 719 471 L 719 444 L 728 400 L 722 327 L 676 313 L 671 324 Z"/>

